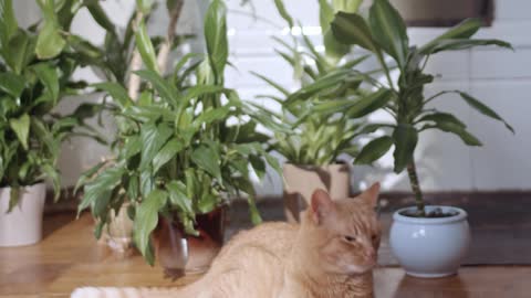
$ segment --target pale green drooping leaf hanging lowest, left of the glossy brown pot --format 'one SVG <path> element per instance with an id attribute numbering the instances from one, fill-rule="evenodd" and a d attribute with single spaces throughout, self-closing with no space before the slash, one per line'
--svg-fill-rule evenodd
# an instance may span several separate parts
<path id="1" fill-rule="evenodd" d="M 152 191 L 136 209 L 133 237 L 136 247 L 152 266 L 154 265 L 154 257 L 150 235 L 158 223 L 158 211 L 166 204 L 167 200 L 168 193 L 157 189 Z"/>

